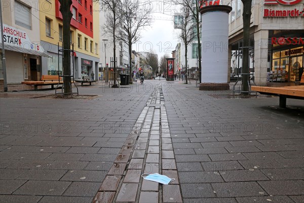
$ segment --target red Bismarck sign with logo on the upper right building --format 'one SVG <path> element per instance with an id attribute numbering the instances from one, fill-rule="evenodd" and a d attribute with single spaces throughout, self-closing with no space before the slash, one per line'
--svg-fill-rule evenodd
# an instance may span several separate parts
<path id="1" fill-rule="evenodd" d="M 304 17 L 304 8 L 294 8 L 302 0 L 264 0 L 264 5 L 288 6 L 284 9 L 264 9 L 263 17 Z M 292 8 L 293 7 L 293 8 Z"/>

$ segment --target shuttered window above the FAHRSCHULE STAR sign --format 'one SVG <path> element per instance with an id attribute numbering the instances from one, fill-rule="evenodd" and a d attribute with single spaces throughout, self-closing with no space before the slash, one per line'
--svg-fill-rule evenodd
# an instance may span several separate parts
<path id="1" fill-rule="evenodd" d="M 15 1 L 14 4 L 15 24 L 26 29 L 31 29 L 30 7 Z"/>

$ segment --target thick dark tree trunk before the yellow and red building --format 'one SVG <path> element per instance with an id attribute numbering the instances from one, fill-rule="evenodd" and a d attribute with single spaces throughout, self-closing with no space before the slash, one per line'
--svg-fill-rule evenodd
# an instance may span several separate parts
<path id="1" fill-rule="evenodd" d="M 71 95 L 71 56 L 70 56 L 70 22 L 73 14 L 70 11 L 72 0 L 59 0 L 63 24 L 63 85 L 64 94 Z"/>

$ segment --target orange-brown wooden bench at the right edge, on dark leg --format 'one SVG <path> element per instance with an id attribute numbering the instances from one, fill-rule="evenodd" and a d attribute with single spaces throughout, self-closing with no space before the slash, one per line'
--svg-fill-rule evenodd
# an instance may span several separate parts
<path id="1" fill-rule="evenodd" d="M 304 85 L 287 87 L 251 86 L 251 90 L 260 94 L 279 96 L 280 108 L 286 108 L 286 98 L 304 99 Z"/>

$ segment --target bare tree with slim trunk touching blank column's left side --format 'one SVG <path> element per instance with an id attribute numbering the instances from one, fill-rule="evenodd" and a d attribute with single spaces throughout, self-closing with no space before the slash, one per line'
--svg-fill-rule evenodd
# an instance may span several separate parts
<path id="1" fill-rule="evenodd" d="M 197 37 L 198 40 L 198 59 L 199 59 L 199 78 L 200 78 L 200 83 L 202 82 L 202 49 L 201 49 L 201 35 L 200 35 L 200 30 L 201 30 L 201 14 L 200 14 L 200 8 L 203 6 L 203 4 L 206 2 L 205 0 L 202 1 L 193 1 L 193 0 L 176 0 L 177 4 L 180 4 L 183 7 L 187 7 L 189 9 L 189 12 L 191 12 L 191 16 L 193 17 L 194 20 L 194 26 L 196 27 L 196 33 L 194 34 L 194 37 Z"/>

